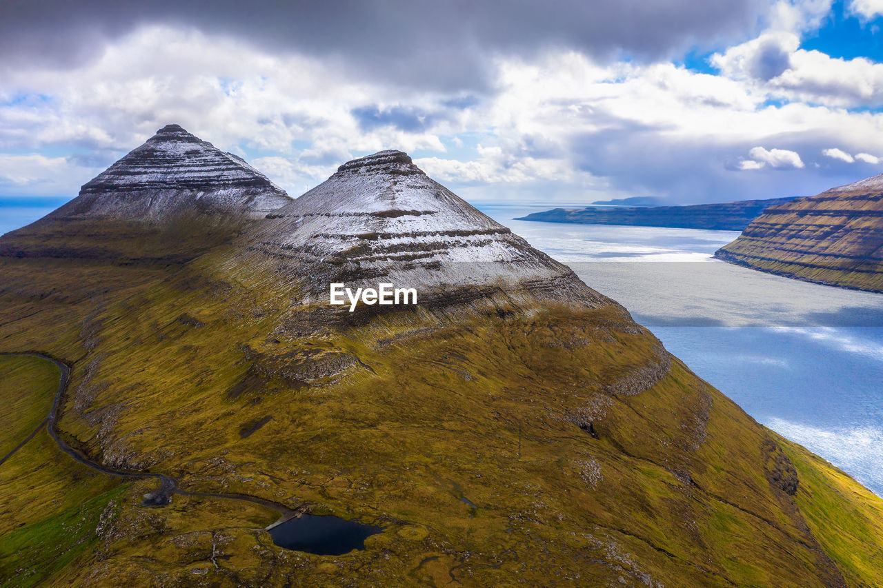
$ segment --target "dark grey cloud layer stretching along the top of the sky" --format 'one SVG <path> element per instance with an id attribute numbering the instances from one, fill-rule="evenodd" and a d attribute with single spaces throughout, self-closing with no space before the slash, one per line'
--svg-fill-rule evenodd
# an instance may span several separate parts
<path id="1" fill-rule="evenodd" d="M 765 7 L 762 0 L 6 0 L 0 59 L 69 67 L 141 24 L 171 24 L 337 57 L 372 79 L 480 87 L 484 57 L 499 51 L 556 46 L 595 57 L 666 57 L 744 38 Z"/>

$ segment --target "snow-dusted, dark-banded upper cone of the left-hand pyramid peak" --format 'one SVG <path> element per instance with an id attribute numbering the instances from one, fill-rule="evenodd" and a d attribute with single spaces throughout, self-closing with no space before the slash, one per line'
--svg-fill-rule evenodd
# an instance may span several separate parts
<path id="1" fill-rule="evenodd" d="M 175 215 L 260 218 L 291 202 L 266 176 L 177 124 L 94 177 L 48 218 L 111 217 L 162 222 Z"/>

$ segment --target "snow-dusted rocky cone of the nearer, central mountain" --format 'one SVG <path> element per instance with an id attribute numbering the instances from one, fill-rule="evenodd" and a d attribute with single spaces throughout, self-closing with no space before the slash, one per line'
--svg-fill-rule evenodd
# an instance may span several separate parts
<path id="1" fill-rule="evenodd" d="M 306 302 L 327 301 L 332 282 L 353 290 L 384 282 L 417 288 L 419 304 L 430 307 L 494 292 L 609 304 L 401 151 L 344 163 L 271 217 L 238 259 L 288 275 L 302 285 Z"/>

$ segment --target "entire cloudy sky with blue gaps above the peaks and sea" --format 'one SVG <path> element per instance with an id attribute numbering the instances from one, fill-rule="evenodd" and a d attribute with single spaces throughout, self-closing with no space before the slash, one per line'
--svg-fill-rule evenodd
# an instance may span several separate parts
<path id="1" fill-rule="evenodd" d="M 883 0 L 0 0 L 0 198 L 164 124 L 292 196 L 408 152 L 467 200 L 811 195 L 883 172 Z"/>

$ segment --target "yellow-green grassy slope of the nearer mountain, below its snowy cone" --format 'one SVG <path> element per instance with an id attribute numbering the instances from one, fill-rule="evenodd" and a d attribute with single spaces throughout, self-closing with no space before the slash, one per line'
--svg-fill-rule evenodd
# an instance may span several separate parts
<path id="1" fill-rule="evenodd" d="M 162 274 L 127 268 L 144 281 L 70 320 L 62 343 L 40 312 L 0 311 L 18 318 L 0 351 L 42 337 L 73 363 L 59 426 L 94 459 L 385 531 L 365 551 L 300 554 L 272 544 L 267 509 L 182 496 L 143 509 L 144 482 L 122 491 L 113 530 L 53 581 L 876 582 L 883 539 L 851 550 L 838 539 L 848 523 L 836 522 L 879 528 L 879 499 L 849 479 L 854 492 L 811 492 L 830 475 L 824 464 L 758 426 L 622 308 L 496 294 L 331 320 L 298 304 L 296 286 L 231 264 L 224 247 Z M 0 466 L 0 511 L 86 502 L 118 484 L 30 471 L 39 458 L 17 457 Z M 72 508 L 11 519 L 0 541 Z"/>

